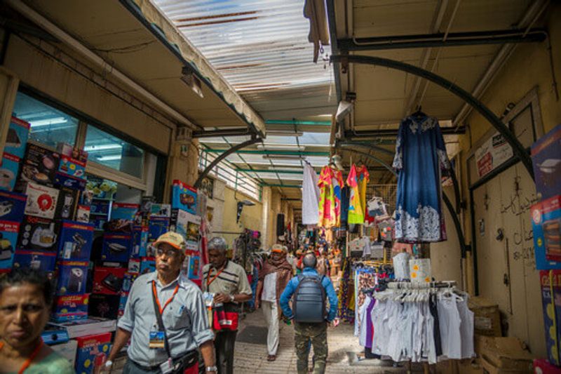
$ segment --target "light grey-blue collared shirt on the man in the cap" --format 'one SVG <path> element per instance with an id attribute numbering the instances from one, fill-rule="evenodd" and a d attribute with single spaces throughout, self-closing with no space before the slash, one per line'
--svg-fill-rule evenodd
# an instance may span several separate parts
<path id="1" fill-rule="evenodd" d="M 173 295 L 175 286 L 180 287 L 173 301 L 162 315 L 168 335 L 171 355 L 176 358 L 196 349 L 214 338 L 208 326 L 203 293 L 195 283 L 184 276 L 162 286 L 156 272 L 139 276 L 128 295 L 125 312 L 117 326 L 132 333 L 128 356 L 142 366 L 157 366 L 168 358 L 165 349 L 149 349 L 149 333 L 158 330 L 158 321 L 152 301 L 152 281 L 156 281 L 158 300 L 163 307 Z"/>

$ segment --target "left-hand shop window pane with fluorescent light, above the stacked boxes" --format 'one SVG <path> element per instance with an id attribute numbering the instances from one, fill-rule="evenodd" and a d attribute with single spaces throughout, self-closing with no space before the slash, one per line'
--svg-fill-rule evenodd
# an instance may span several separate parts
<path id="1" fill-rule="evenodd" d="M 30 140 L 52 148 L 59 142 L 74 145 L 79 121 L 65 112 L 18 92 L 13 115 L 31 124 Z"/>

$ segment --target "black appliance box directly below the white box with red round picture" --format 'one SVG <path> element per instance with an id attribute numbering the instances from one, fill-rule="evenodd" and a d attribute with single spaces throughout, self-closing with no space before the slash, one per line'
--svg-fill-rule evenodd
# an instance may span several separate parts
<path id="1" fill-rule="evenodd" d="M 57 251 L 58 224 L 46 218 L 24 215 L 18 236 L 18 249 Z"/>

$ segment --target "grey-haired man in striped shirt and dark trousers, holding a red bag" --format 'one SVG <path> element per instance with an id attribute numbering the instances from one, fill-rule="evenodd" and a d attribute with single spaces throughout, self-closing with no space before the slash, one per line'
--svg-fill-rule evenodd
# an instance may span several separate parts
<path id="1" fill-rule="evenodd" d="M 239 304 L 251 300 L 251 287 L 248 276 L 240 265 L 226 258 L 227 243 L 224 239 L 215 237 L 208 241 L 208 260 L 210 263 L 203 267 L 203 291 L 214 294 L 215 309 L 221 309 L 236 314 L 237 321 Z M 215 312 L 216 313 L 216 312 Z M 216 327 L 216 326 L 215 326 Z M 234 344 L 236 329 L 228 326 L 216 331 L 215 349 L 219 374 L 234 372 Z"/>

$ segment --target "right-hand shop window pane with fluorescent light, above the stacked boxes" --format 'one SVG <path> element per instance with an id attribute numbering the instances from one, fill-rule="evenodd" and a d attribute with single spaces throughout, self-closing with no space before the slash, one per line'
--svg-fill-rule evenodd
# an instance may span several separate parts
<path id="1" fill-rule="evenodd" d="M 88 161 L 122 171 L 136 178 L 142 178 L 144 171 L 144 149 L 106 133 L 94 126 L 88 126 L 84 150 Z"/>

